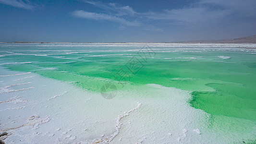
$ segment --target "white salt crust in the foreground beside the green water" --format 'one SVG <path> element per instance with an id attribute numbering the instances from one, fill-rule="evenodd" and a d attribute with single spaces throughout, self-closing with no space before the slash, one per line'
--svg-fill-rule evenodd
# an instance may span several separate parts
<path id="1" fill-rule="evenodd" d="M 190 97 L 189 91 L 146 84 L 107 100 L 66 82 L 0 67 L 0 131 L 8 132 L 6 144 L 224 144 L 256 134 L 254 121 L 212 118 L 189 106 Z M 221 120 L 230 120 L 228 129 Z"/>

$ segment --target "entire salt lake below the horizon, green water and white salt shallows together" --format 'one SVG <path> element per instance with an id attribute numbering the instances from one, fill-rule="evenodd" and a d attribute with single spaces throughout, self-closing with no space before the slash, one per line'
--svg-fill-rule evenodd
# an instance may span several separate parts
<path id="1" fill-rule="evenodd" d="M 110 143 L 255 142 L 256 44 L 0 44 L 0 67 L 1 130 L 33 115 L 50 118 L 36 130 L 9 130 L 8 142 L 19 135 L 29 143 L 22 132 L 39 143 L 47 135 L 51 143 L 92 143 L 111 134 Z M 104 84 L 116 87 L 112 99 L 101 96 Z M 14 96 L 22 97 L 15 107 Z M 115 119 L 137 102 L 116 130 Z"/>

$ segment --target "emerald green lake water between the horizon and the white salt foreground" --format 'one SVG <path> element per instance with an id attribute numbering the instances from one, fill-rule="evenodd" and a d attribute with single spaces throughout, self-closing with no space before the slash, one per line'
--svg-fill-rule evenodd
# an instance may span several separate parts
<path id="1" fill-rule="evenodd" d="M 213 116 L 256 120 L 256 44 L 148 44 L 154 53 L 142 58 L 138 51 L 144 46 L 0 44 L 0 66 L 95 92 L 110 81 L 120 90 L 140 84 L 176 87 L 191 91 L 190 105 Z M 126 64 L 135 58 L 143 66 L 133 74 Z M 122 77 L 126 82 L 114 81 L 121 69 L 129 74 Z"/>

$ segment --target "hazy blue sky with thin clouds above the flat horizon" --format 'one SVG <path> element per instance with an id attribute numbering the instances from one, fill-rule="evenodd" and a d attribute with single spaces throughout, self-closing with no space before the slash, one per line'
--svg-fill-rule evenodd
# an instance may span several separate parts
<path id="1" fill-rule="evenodd" d="M 0 0 L 0 42 L 181 42 L 256 35 L 256 0 Z"/>

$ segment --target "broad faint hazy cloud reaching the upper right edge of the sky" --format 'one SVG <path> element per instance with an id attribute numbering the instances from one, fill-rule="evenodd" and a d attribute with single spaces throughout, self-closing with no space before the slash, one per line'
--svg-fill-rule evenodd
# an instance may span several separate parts
<path id="1" fill-rule="evenodd" d="M 256 16 L 256 0 L 199 0 L 182 9 L 145 12 L 150 20 L 172 21 L 173 24 L 218 23 L 230 16 Z"/>

